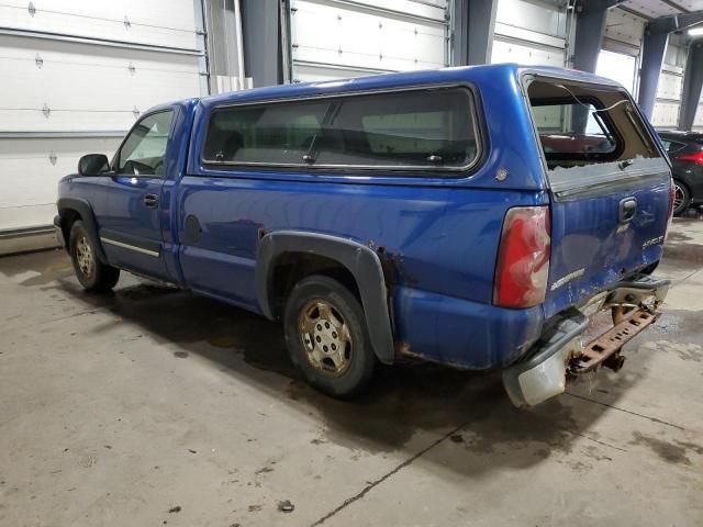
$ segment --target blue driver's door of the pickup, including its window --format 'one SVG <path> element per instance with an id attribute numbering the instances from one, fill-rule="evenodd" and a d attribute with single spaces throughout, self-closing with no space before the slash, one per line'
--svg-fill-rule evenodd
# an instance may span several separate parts
<path id="1" fill-rule="evenodd" d="M 163 254 L 161 187 L 174 110 L 140 120 L 112 161 L 100 239 L 111 264 L 168 279 Z"/>

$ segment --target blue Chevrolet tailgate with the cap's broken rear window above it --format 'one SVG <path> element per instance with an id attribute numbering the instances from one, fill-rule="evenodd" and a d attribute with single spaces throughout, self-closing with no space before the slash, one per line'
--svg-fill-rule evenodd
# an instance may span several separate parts
<path id="1" fill-rule="evenodd" d="M 661 258 L 671 172 L 623 88 L 536 76 L 527 94 L 551 190 L 549 317 Z"/>

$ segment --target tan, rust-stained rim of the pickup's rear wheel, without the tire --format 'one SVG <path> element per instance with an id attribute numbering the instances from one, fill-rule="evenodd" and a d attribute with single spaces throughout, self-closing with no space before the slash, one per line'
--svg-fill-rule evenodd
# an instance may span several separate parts
<path id="1" fill-rule="evenodd" d="M 300 341 L 317 370 L 341 375 L 352 359 L 352 334 L 341 313 L 326 300 L 310 301 L 298 319 Z"/>

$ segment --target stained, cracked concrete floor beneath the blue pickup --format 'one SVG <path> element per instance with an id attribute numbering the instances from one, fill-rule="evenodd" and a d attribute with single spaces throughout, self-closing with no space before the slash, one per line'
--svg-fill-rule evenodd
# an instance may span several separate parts
<path id="1" fill-rule="evenodd" d="M 432 366 L 333 401 L 264 318 L 0 259 L 0 526 L 701 526 L 703 221 L 674 221 L 660 273 L 621 373 L 521 412 Z"/>

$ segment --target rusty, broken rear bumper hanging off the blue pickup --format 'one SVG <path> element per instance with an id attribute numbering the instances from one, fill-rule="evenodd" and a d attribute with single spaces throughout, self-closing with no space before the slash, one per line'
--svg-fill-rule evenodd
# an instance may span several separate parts
<path id="1" fill-rule="evenodd" d="M 503 371 L 503 384 L 515 406 L 534 406 L 566 390 L 567 375 L 578 375 L 601 365 L 620 369 L 622 347 L 657 318 L 669 280 L 639 276 L 617 282 L 580 310 L 571 309 L 549 325 L 527 359 Z M 582 335 L 589 326 L 584 312 L 612 310 L 614 326 L 591 343 Z"/>

